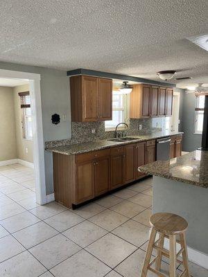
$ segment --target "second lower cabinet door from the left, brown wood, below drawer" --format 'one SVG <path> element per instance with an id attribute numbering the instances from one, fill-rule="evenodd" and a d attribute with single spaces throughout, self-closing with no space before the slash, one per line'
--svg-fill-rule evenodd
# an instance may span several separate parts
<path id="1" fill-rule="evenodd" d="M 110 190 L 110 157 L 95 162 L 95 196 Z"/>

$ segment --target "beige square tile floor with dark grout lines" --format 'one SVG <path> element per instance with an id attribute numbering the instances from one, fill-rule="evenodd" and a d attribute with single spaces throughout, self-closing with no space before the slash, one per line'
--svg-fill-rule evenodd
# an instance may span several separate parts
<path id="1" fill-rule="evenodd" d="M 149 178 L 74 211 L 55 202 L 39 206 L 33 170 L 2 166 L 0 276 L 139 277 L 151 203 Z M 166 258 L 162 268 L 168 270 Z M 192 262 L 190 270 L 193 277 L 208 276 Z"/>

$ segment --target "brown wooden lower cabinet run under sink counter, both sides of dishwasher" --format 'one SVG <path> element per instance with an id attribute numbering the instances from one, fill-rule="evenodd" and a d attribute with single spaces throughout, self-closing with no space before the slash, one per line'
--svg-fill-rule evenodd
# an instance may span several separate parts
<path id="1" fill-rule="evenodd" d="M 172 136 L 170 157 L 180 156 L 181 149 L 182 135 Z M 55 201 L 71 207 L 144 177 L 138 167 L 155 161 L 155 154 L 155 140 L 69 156 L 53 153 Z"/>

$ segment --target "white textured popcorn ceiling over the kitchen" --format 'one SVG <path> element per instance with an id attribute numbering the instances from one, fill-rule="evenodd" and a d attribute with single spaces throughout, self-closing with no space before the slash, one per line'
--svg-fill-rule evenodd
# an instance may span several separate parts
<path id="1" fill-rule="evenodd" d="M 208 53 L 186 39 L 208 33 L 207 0 L 7 0 L 0 14 L 1 61 L 208 80 Z"/>

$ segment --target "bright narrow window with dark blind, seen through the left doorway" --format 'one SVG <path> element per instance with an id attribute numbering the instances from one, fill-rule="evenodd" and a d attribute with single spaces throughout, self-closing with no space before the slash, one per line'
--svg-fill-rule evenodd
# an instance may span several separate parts
<path id="1" fill-rule="evenodd" d="M 19 93 L 21 105 L 21 124 L 22 137 L 24 139 L 33 139 L 32 116 L 31 116 L 31 97 L 29 91 Z"/>

